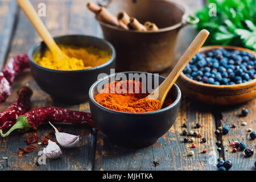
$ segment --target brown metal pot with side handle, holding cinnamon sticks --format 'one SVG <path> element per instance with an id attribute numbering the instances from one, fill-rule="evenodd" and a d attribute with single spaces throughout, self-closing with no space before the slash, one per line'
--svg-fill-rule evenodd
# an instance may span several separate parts
<path id="1" fill-rule="evenodd" d="M 159 27 L 159 31 L 143 32 L 100 22 L 104 38 L 117 50 L 115 68 L 118 72 L 162 72 L 172 67 L 180 28 L 199 21 L 187 6 L 177 1 L 113 0 L 108 9 L 113 14 L 126 11 L 141 23 L 150 21 Z"/>

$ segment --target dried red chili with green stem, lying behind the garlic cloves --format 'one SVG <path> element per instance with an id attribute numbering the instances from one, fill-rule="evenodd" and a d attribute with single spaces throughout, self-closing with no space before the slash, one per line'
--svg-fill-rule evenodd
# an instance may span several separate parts
<path id="1" fill-rule="evenodd" d="M 13 127 L 5 134 L 0 130 L 2 137 L 7 137 L 13 130 L 30 128 L 37 129 L 43 122 L 53 121 L 57 123 L 85 124 L 96 128 L 90 113 L 72 111 L 60 107 L 41 107 L 20 115 Z"/>

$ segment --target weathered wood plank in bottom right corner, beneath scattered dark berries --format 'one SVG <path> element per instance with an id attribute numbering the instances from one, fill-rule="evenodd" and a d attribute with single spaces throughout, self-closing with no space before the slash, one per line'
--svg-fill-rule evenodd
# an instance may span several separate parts
<path id="1" fill-rule="evenodd" d="M 241 117 L 242 107 L 249 109 L 249 114 L 246 117 Z M 254 170 L 254 162 L 256 155 L 254 154 L 250 158 L 245 157 L 244 151 L 232 152 L 232 147 L 229 147 L 229 142 L 245 142 L 247 147 L 256 148 L 256 140 L 251 140 L 249 128 L 256 130 L 256 98 L 254 100 L 245 102 L 244 104 L 233 107 L 221 107 L 222 112 L 222 126 L 229 127 L 229 133 L 222 135 L 224 155 L 225 159 L 229 159 L 233 162 L 231 170 Z M 241 126 L 242 122 L 246 122 L 246 126 Z M 233 123 L 237 125 L 236 128 L 232 128 Z M 228 150 L 228 151 L 226 151 Z M 255 152 L 254 152 L 255 153 Z"/>

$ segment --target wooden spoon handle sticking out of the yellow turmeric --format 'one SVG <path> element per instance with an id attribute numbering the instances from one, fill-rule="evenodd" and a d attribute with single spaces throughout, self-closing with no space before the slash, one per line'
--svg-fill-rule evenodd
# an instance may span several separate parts
<path id="1" fill-rule="evenodd" d="M 16 0 L 20 8 L 24 11 L 24 13 L 27 15 L 27 18 L 30 20 L 32 25 L 35 27 L 38 34 L 41 36 L 41 38 L 46 43 L 49 50 L 52 52 L 52 54 L 56 55 L 62 55 L 60 48 L 57 46 L 55 41 L 53 40 L 51 34 L 47 30 L 46 26 L 44 26 L 44 23 L 39 18 L 38 14 L 36 13 L 34 7 L 31 5 L 31 3 L 28 0 Z"/>

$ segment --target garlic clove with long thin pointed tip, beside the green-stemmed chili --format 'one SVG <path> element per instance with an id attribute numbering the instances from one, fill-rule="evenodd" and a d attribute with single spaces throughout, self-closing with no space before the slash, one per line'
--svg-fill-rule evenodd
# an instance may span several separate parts
<path id="1" fill-rule="evenodd" d="M 77 143 L 79 143 L 80 137 L 79 135 L 72 135 L 68 133 L 60 133 L 55 126 L 52 125 L 52 123 L 49 122 L 49 124 L 53 127 L 55 130 L 55 136 L 57 139 L 57 142 L 60 144 L 60 146 L 64 148 L 73 148 L 77 146 Z"/>

